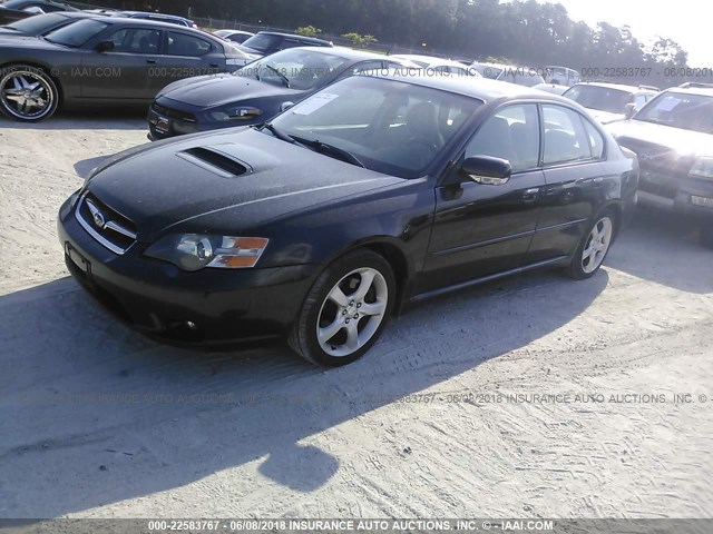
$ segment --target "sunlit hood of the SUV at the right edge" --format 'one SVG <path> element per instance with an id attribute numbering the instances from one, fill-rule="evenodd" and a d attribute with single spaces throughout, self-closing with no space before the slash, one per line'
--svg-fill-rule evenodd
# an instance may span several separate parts
<path id="1" fill-rule="evenodd" d="M 637 147 L 658 146 L 675 150 L 682 156 L 713 156 L 713 135 L 672 128 L 670 126 L 624 120 L 607 126 L 616 140 L 632 150 Z"/>

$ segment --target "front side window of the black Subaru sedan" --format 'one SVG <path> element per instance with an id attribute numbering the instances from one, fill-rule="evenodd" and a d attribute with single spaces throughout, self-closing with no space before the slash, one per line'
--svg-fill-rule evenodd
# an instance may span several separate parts
<path id="1" fill-rule="evenodd" d="M 508 106 L 478 129 L 466 157 L 491 156 L 510 161 L 512 172 L 529 170 L 539 164 L 539 136 L 537 106 Z"/>

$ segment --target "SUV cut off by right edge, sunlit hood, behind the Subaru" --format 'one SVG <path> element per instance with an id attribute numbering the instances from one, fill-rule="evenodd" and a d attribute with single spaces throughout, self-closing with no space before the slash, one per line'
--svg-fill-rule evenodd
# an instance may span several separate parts
<path id="1" fill-rule="evenodd" d="M 697 221 L 713 247 L 713 86 L 667 89 L 607 128 L 638 156 L 638 201 Z"/>

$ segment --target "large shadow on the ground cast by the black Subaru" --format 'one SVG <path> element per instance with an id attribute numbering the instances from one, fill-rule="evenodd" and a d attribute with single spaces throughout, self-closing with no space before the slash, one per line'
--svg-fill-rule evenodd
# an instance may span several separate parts
<path id="1" fill-rule="evenodd" d="M 313 492 L 341 458 L 312 436 L 528 345 L 607 283 L 606 271 L 585 283 L 539 273 L 421 305 L 362 360 L 333 370 L 282 344 L 156 344 L 69 278 L 0 297 L 0 517 L 87 511 L 251 462 Z"/>

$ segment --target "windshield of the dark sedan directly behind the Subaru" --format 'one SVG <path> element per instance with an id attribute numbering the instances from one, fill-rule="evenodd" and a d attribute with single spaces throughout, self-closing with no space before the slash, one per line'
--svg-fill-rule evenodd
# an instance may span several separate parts
<path id="1" fill-rule="evenodd" d="M 290 89 L 309 90 L 335 79 L 348 62 L 348 59 L 331 53 L 291 48 L 243 67 L 236 75 Z"/>

